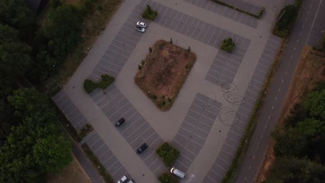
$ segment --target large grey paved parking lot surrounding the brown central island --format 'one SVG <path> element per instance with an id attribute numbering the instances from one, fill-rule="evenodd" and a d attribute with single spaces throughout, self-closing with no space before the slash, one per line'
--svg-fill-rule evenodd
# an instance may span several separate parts
<path id="1" fill-rule="evenodd" d="M 203 46 L 195 51 L 200 51 L 200 54 L 206 48 L 215 49 L 214 55 L 209 53 L 211 54 L 209 55 L 210 60 L 198 58 L 197 63 L 194 65 L 194 71 L 188 80 L 191 80 L 192 77 L 197 78 L 199 82 L 191 83 L 190 85 L 193 85 L 192 88 L 187 86 L 187 89 L 192 89 L 193 91 L 185 91 L 192 92 L 194 95 L 191 98 L 178 99 L 175 103 L 176 106 L 183 107 L 179 110 L 178 114 L 182 118 L 178 120 L 180 125 L 177 125 L 178 122 L 175 123 L 178 131 L 169 143 L 172 143 L 181 152 L 174 166 L 189 175 L 185 177 L 185 181 L 220 182 L 235 155 L 235 150 L 244 133 L 251 110 L 263 87 L 264 80 L 281 39 L 270 36 L 265 41 L 266 44 L 263 46 L 264 49 L 261 49 L 260 54 L 256 54 L 258 52 L 258 49 L 256 49 L 254 54 L 247 55 L 247 53 L 252 53 L 251 49 L 254 42 L 256 43 L 257 40 L 258 42 L 263 42 L 263 39 L 267 38 L 261 39 L 258 36 L 242 34 L 240 30 L 229 30 L 231 26 L 215 24 L 212 21 L 213 18 L 200 19 L 198 14 L 208 11 L 216 16 L 221 15 L 229 19 L 229 22 L 231 22 L 229 24 L 236 22 L 235 24 L 249 27 L 247 29 L 249 31 L 252 28 L 257 29 L 260 20 L 208 0 L 178 1 L 178 7 L 182 7 L 182 4 L 186 5 L 192 8 L 191 12 L 182 8 L 173 8 L 174 6 L 170 6 L 169 3 L 170 1 L 156 0 L 125 1 L 124 4 L 132 4 L 130 5 L 132 8 L 122 6 L 119 11 L 123 13 L 117 13 L 117 15 L 125 16 L 123 21 L 119 18 L 113 19 L 113 22 L 122 21 L 122 24 L 117 32 L 111 36 L 112 40 L 102 45 L 105 47 L 103 53 L 88 55 L 90 57 L 89 60 L 94 62 L 90 73 L 82 71 L 78 73 L 78 77 L 72 79 L 63 91 L 53 96 L 53 101 L 56 102 L 60 110 L 65 112 L 65 115 L 76 130 L 83 128 L 88 121 L 97 126 L 94 132 L 88 134 L 83 140 L 90 146 L 90 149 L 99 158 L 115 181 L 119 180 L 124 174 L 129 175 L 128 172 L 132 174 L 131 176 L 135 182 L 141 182 L 142 179 L 147 178 L 147 176 L 144 177 L 144 174 L 153 174 L 154 177 L 158 177 L 167 171 L 167 167 L 155 153 L 156 148 L 164 143 L 165 139 L 162 138 L 162 133 L 160 132 L 159 134 L 158 130 L 152 125 L 156 123 L 156 121 L 152 120 L 154 118 L 149 118 L 149 116 L 139 112 L 138 107 L 144 107 L 145 105 L 137 104 L 137 107 L 135 107 L 131 102 L 134 101 L 133 98 L 128 98 L 130 96 L 126 96 L 124 91 L 119 88 L 121 83 L 118 80 L 116 82 L 119 85 L 113 84 L 107 89 L 95 89 L 89 96 L 82 90 L 83 80 L 90 78 L 91 80 L 98 81 L 103 74 L 109 74 L 117 79 L 132 78 L 133 76 L 121 76 L 120 73 L 122 71 L 126 74 L 134 73 L 134 69 L 138 69 L 135 67 L 126 68 L 125 66 L 128 62 L 138 62 L 134 60 L 144 59 L 144 54 L 135 54 L 135 51 L 140 52 L 144 50 L 139 48 L 139 44 L 143 45 L 145 42 L 147 45 L 148 42 L 153 42 L 153 40 L 144 39 L 146 34 L 150 34 L 151 37 L 155 35 L 151 31 L 151 27 L 153 27 L 153 30 L 154 28 L 168 30 L 168 36 L 177 37 L 178 42 L 192 41 L 190 45 L 193 44 L 194 46 L 199 42 Z M 247 8 L 245 10 L 250 10 L 251 12 L 259 10 L 258 6 L 243 3 L 243 1 L 231 1 L 230 3 L 234 3 L 243 9 Z M 134 6 L 133 4 L 136 5 Z M 147 4 L 153 10 L 158 11 L 158 17 L 153 22 L 142 19 L 142 12 Z M 144 21 L 148 24 L 146 33 L 140 33 L 135 30 L 135 23 L 137 21 Z M 107 34 L 109 30 L 110 28 L 108 27 L 108 30 L 106 30 L 108 31 Z M 163 33 L 164 31 L 160 34 Z M 162 37 L 161 35 L 156 36 Z M 219 50 L 222 41 L 228 37 L 231 37 L 235 42 L 233 53 Z M 147 51 L 147 48 L 145 50 Z M 92 59 L 92 57 L 98 59 Z M 246 62 L 244 62 L 245 60 Z M 250 60 L 256 60 L 256 62 L 247 62 Z M 125 71 L 125 69 L 130 68 L 133 70 Z M 246 75 L 239 75 L 239 73 L 242 74 L 240 72 L 242 69 L 247 68 L 253 68 L 253 72 L 247 75 L 247 71 Z M 246 80 L 249 80 L 248 84 L 245 84 Z M 197 87 L 197 85 L 203 84 L 202 88 Z M 247 86 L 243 87 L 243 85 Z M 184 105 L 185 101 L 189 101 L 187 105 Z M 74 103 L 78 103 L 78 105 Z M 103 117 L 96 121 L 91 120 L 94 117 L 98 117 L 92 116 L 93 113 L 98 114 L 98 110 L 103 114 Z M 168 112 L 165 112 L 165 114 L 168 114 Z M 126 119 L 126 122 L 119 128 L 115 128 L 114 123 L 121 117 Z M 148 121 L 148 119 L 151 119 L 151 121 Z M 99 126 L 101 127 L 99 128 Z M 113 139 L 111 134 L 106 134 L 110 138 L 103 138 L 103 131 L 105 132 L 107 129 L 117 131 L 122 139 Z M 213 130 L 214 133 L 211 133 Z M 216 142 L 213 140 L 217 135 L 224 135 L 225 140 L 221 141 L 220 146 L 215 145 Z M 147 143 L 149 148 L 139 157 L 140 161 L 142 161 L 141 163 L 147 167 L 149 172 L 146 172 L 147 170 L 143 168 L 139 170 L 132 168 L 134 164 L 132 161 L 120 161 L 121 159 L 113 155 L 112 152 L 117 151 L 115 148 L 123 149 L 124 146 L 110 146 L 112 141 L 115 141 L 115 143 L 125 141 L 126 146 L 130 146 L 134 151 L 131 153 L 131 156 L 134 157 L 139 156 L 135 153 L 135 150 L 142 143 Z M 215 150 L 213 155 L 200 157 L 200 159 L 209 159 L 209 164 L 205 164 L 204 167 L 194 171 L 195 168 L 193 167 L 200 164 L 200 162 L 194 163 L 194 159 L 199 157 L 203 148 L 212 149 L 212 147 Z M 134 159 L 134 161 L 138 161 L 138 157 Z M 140 171 L 145 173 L 143 175 L 139 174 L 138 172 Z M 192 177 L 192 175 L 196 176 Z M 151 182 L 155 181 L 157 180 L 152 180 Z"/>

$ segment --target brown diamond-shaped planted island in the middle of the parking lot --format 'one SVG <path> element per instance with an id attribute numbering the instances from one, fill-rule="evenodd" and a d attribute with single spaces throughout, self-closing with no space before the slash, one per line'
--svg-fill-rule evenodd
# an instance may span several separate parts
<path id="1" fill-rule="evenodd" d="M 142 61 L 135 83 L 161 110 L 172 107 L 197 56 L 165 40 L 153 44 L 152 52 Z"/>

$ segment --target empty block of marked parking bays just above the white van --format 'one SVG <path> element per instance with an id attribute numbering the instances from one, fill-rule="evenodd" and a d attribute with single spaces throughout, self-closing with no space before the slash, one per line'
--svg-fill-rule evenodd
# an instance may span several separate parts
<path id="1" fill-rule="evenodd" d="M 181 152 L 175 163 L 177 168 L 186 171 L 197 157 L 206 142 L 221 105 L 203 94 L 195 96 L 181 128 L 172 141 L 172 145 Z"/>

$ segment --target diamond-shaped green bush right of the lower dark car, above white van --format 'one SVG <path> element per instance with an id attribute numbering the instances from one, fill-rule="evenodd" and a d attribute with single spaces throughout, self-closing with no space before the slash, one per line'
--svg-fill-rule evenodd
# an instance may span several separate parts
<path id="1" fill-rule="evenodd" d="M 163 145 L 156 150 L 156 153 L 163 159 L 163 162 L 165 162 L 168 167 L 172 167 L 180 154 L 176 148 L 173 148 L 167 142 L 163 143 Z"/>

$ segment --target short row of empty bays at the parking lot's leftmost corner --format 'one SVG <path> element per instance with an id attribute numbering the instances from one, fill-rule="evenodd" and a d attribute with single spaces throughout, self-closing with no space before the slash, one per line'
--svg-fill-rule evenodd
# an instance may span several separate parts
<path id="1" fill-rule="evenodd" d="M 83 128 L 88 123 L 83 114 L 78 110 L 76 105 L 74 105 L 69 96 L 63 92 L 63 90 L 54 95 L 52 97 L 52 100 L 65 114 L 67 119 L 77 131 L 81 130 L 81 128 Z"/>

